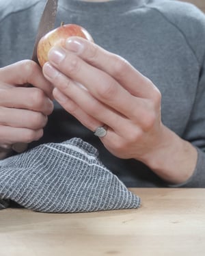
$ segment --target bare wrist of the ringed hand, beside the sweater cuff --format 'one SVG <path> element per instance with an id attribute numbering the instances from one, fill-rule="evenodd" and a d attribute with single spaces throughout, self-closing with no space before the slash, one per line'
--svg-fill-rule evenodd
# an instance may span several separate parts
<path id="1" fill-rule="evenodd" d="M 154 150 L 143 158 L 144 164 L 170 183 L 187 181 L 193 175 L 196 162 L 195 147 L 165 126 Z"/>

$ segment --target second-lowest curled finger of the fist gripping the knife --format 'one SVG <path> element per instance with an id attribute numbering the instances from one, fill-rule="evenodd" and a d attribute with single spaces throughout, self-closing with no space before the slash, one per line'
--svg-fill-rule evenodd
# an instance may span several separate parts
<path id="1" fill-rule="evenodd" d="M 47 116 L 40 112 L 0 107 L 0 125 L 16 128 L 42 129 L 47 123 Z"/>

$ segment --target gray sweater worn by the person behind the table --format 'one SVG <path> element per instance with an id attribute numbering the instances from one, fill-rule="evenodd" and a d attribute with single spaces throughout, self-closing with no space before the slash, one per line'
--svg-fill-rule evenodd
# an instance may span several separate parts
<path id="1" fill-rule="evenodd" d="M 0 0 L 0 66 L 31 56 L 44 3 Z M 56 26 L 61 21 L 85 27 L 96 44 L 122 55 L 161 90 L 163 123 L 198 151 L 194 175 L 184 186 L 205 187 L 204 14 L 168 0 L 59 0 Z M 43 138 L 29 146 L 73 137 L 96 146 L 103 164 L 127 186 L 167 185 L 141 162 L 113 157 L 57 103 Z"/>

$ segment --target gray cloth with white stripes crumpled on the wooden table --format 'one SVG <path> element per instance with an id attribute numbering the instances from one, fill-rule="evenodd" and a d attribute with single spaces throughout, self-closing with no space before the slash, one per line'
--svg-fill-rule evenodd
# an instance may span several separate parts
<path id="1" fill-rule="evenodd" d="M 0 161 L 0 209 L 10 200 L 38 212 L 137 208 L 128 191 L 80 138 L 48 143 Z"/>

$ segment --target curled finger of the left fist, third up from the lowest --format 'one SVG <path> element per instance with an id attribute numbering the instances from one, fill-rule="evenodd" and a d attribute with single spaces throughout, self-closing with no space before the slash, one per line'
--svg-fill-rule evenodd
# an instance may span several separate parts
<path id="1" fill-rule="evenodd" d="M 33 110 L 44 115 L 53 112 L 53 102 L 38 88 L 12 87 L 8 90 L 2 89 L 0 90 L 0 105 Z"/>

